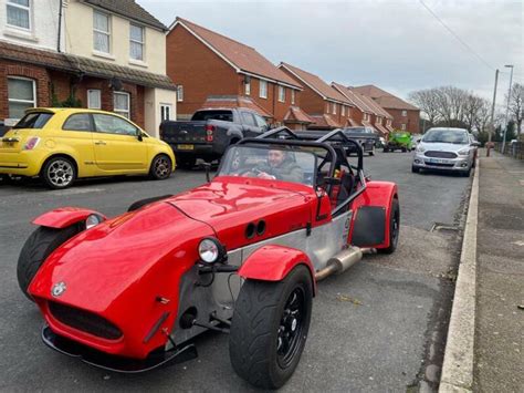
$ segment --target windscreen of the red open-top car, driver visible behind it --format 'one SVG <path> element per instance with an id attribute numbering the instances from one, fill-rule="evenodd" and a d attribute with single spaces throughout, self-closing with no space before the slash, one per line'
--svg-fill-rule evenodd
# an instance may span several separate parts
<path id="1" fill-rule="evenodd" d="M 218 176 L 258 177 L 312 186 L 316 156 L 311 152 L 271 145 L 239 145 L 228 149 Z"/>

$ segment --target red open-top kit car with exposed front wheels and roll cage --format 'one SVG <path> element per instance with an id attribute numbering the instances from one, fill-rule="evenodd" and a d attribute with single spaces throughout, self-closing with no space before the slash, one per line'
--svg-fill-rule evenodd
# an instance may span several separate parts
<path id="1" fill-rule="evenodd" d="M 275 389 L 300 361 L 316 282 L 363 252 L 392 252 L 399 215 L 397 186 L 366 178 L 340 131 L 311 141 L 281 127 L 231 146 L 216 177 L 184 194 L 114 218 L 38 217 L 18 279 L 62 353 L 140 372 L 196 356 L 192 339 L 211 329 L 230 333 L 240 376 Z"/>

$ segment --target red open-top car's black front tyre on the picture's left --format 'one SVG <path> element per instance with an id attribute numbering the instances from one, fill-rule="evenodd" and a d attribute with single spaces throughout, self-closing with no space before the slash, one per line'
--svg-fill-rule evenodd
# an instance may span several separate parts
<path id="1" fill-rule="evenodd" d="M 20 289 L 29 300 L 33 301 L 28 292 L 29 285 L 39 271 L 43 261 L 57 247 L 71 239 L 81 230 L 82 228 L 77 224 L 61 229 L 39 227 L 31 234 L 28 240 L 25 240 L 25 244 L 20 251 L 20 257 L 18 258 L 17 278 Z"/>

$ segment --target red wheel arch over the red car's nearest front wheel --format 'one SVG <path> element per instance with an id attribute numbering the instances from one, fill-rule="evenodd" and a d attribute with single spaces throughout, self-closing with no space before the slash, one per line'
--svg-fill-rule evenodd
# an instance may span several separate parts
<path id="1" fill-rule="evenodd" d="M 303 251 L 277 245 L 268 245 L 251 254 L 239 270 L 244 279 L 282 281 L 296 266 L 304 265 L 310 272 L 313 294 L 316 293 L 315 268 Z"/>

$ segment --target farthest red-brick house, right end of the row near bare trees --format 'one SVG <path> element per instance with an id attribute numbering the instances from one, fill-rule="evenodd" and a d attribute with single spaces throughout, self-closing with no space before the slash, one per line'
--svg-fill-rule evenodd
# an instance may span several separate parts
<path id="1" fill-rule="evenodd" d="M 353 87 L 355 92 L 371 97 L 392 117 L 391 127 L 408 131 L 411 134 L 420 132 L 420 110 L 373 84 Z"/>

